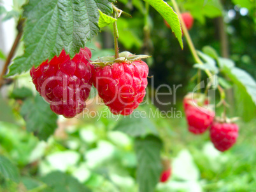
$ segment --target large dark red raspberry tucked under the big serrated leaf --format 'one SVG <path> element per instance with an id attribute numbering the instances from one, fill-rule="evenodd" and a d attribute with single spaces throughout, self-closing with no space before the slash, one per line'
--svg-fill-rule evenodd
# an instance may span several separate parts
<path id="1" fill-rule="evenodd" d="M 81 48 L 70 60 L 62 50 L 59 57 L 53 57 L 50 62 L 46 60 L 39 67 L 32 67 L 32 82 L 54 113 L 73 118 L 85 108 L 94 70 L 90 64 L 91 56 L 89 48 Z"/>

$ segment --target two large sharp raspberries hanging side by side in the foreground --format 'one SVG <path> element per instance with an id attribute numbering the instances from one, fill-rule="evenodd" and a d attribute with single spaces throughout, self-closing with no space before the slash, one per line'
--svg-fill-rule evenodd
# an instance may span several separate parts
<path id="1" fill-rule="evenodd" d="M 132 55 L 127 51 L 122 54 L 125 61 L 111 57 L 113 62 L 108 60 L 103 67 L 94 67 L 89 48 L 80 49 L 73 59 L 63 50 L 50 62 L 46 60 L 39 67 L 32 67 L 32 82 L 52 111 L 66 118 L 83 111 L 92 84 L 111 113 L 129 115 L 146 94 L 148 65 L 140 58 L 148 56 Z"/>

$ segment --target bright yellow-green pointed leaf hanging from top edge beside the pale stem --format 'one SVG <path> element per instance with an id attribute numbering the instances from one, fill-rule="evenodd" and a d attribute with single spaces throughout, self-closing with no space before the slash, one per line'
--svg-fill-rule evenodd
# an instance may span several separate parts
<path id="1" fill-rule="evenodd" d="M 148 2 L 155 10 L 157 10 L 160 15 L 167 21 L 170 25 L 171 30 L 174 32 L 176 38 L 178 39 L 181 48 L 183 49 L 182 32 L 181 25 L 178 15 L 173 11 L 173 8 L 169 6 L 166 2 L 162 0 L 144 0 Z"/>

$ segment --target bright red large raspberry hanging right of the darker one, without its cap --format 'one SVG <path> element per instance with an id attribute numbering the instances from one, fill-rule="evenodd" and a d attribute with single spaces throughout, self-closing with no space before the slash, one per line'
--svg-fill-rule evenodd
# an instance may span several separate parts
<path id="1" fill-rule="evenodd" d="M 147 76 L 148 65 L 136 60 L 97 67 L 93 81 L 111 113 L 129 115 L 145 97 Z"/>

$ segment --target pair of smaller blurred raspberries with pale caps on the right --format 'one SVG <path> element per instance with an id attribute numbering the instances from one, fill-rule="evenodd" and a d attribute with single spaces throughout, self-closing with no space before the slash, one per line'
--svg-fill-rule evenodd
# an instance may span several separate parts
<path id="1" fill-rule="evenodd" d="M 227 118 L 215 117 L 211 109 L 204 107 L 209 100 L 200 93 L 188 93 L 183 99 L 183 107 L 188 123 L 188 130 L 193 134 L 203 134 L 210 128 L 210 139 L 219 151 L 231 148 L 238 138 L 238 125 Z"/>

